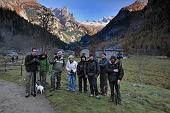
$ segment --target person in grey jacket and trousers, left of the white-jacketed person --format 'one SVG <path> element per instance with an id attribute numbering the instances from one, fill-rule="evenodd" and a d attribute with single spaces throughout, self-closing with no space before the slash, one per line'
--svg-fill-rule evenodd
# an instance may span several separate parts
<path id="1" fill-rule="evenodd" d="M 54 55 L 50 64 L 52 64 L 51 88 L 52 90 L 60 89 L 61 75 L 65 67 L 65 61 L 61 51 Z"/>

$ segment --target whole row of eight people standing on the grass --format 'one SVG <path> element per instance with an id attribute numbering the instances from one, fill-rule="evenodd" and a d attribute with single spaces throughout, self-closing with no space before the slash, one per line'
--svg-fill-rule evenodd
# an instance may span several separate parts
<path id="1" fill-rule="evenodd" d="M 80 62 L 75 60 L 73 55 L 68 57 L 67 63 L 62 56 L 62 52 L 59 51 L 48 62 L 47 55 L 42 54 L 38 56 L 37 50 L 32 49 L 32 54 L 26 56 L 26 97 L 30 94 L 36 96 L 35 83 L 36 73 L 39 67 L 40 82 L 45 85 L 47 72 L 49 71 L 49 64 L 52 65 L 51 75 L 51 90 L 57 90 L 61 87 L 61 75 L 64 69 L 68 73 L 68 91 L 76 91 L 76 78 L 78 78 L 78 90 L 79 92 L 87 93 L 87 81 L 90 85 L 90 97 L 96 97 L 99 99 L 99 94 L 105 96 L 108 93 L 108 81 L 111 90 L 110 102 L 115 100 L 115 92 L 117 94 L 118 103 L 121 103 L 120 95 L 120 81 L 124 76 L 124 71 L 119 58 L 111 56 L 108 60 L 106 54 L 101 54 L 101 60 L 98 62 L 93 54 L 90 54 L 87 58 L 85 55 L 81 56 Z M 77 76 L 76 76 L 77 75 Z M 97 78 L 100 76 L 100 92 L 97 87 Z"/>

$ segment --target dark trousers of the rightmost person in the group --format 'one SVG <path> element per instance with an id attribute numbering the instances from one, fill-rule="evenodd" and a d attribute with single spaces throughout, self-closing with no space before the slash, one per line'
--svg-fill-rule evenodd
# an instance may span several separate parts
<path id="1" fill-rule="evenodd" d="M 111 99 L 114 101 L 114 95 L 117 94 L 118 101 L 121 101 L 121 94 L 120 94 L 120 85 L 117 84 L 117 81 L 109 81 L 110 90 L 111 90 Z"/>

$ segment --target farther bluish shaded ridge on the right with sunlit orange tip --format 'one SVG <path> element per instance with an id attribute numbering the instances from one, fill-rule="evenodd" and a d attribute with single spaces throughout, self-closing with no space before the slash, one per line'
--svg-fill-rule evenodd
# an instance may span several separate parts
<path id="1" fill-rule="evenodd" d="M 136 20 L 136 17 L 141 15 L 141 11 L 145 6 L 145 3 L 136 1 L 132 5 L 122 8 L 116 17 L 96 34 L 96 38 L 99 40 L 108 40 L 113 37 L 122 38 L 130 24 Z"/>

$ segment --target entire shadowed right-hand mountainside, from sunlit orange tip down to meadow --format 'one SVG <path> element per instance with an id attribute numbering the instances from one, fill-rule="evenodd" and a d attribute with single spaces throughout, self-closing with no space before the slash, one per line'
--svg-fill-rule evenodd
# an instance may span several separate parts
<path id="1" fill-rule="evenodd" d="M 146 3 L 137 0 L 122 8 L 94 40 L 107 40 L 112 42 L 110 46 L 123 46 L 126 52 L 170 56 L 170 1 Z"/>

